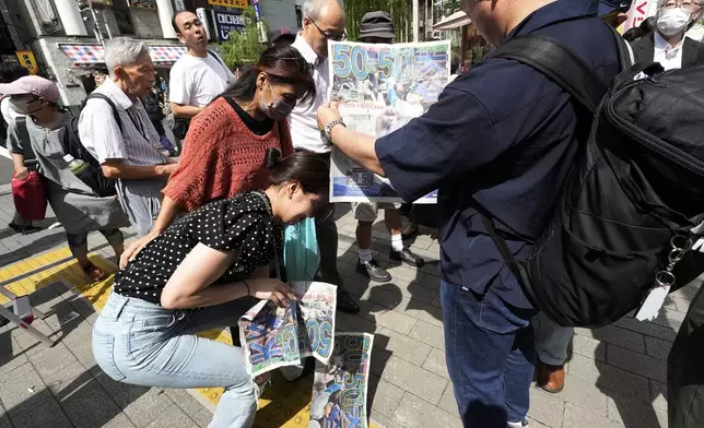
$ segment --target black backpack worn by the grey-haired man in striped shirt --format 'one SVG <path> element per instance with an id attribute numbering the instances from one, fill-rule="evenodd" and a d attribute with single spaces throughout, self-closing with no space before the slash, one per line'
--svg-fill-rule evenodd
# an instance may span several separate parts
<path id="1" fill-rule="evenodd" d="M 106 97 L 103 94 L 92 93 L 85 99 L 87 102 L 92 98 L 99 98 L 105 100 L 110 108 L 113 109 L 113 118 L 117 122 L 117 126 L 122 130 L 122 121 L 117 112 L 117 108 L 113 100 Z M 79 136 L 79 117 L 72 117 L 71 120 L 63 126 L 59 131 L 59 141 L 63 147 L 63 153 L 73 156 L 75 159 L 82 159 L 89 164 L 89 168 L 78 176 L 81 181 L 87 185 L 94 192 L 101 198 L 112 197 L 117 194 L 117 189 L 115 187 L 115 180 L 112 178 L 105 177 L 103 174 L 103 167 L 101 163 L 97 162 L 95 157 L 89 152 L 81 143 L 81 138 Z"/>

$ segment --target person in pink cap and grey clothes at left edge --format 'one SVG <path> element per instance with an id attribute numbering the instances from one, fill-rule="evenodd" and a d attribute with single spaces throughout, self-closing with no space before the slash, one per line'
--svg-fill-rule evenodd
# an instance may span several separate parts
<path id="1" fill-rule="evenodd" d="M 45 178 L 47 199 L 57 219 L 66 229 L 69 249 L 78 260 L 85 276 L 101 281 L 106 275 L 87 258 L 87 234 L 98 230 L 115 250 L 119 260 L 122 253 L 120 227 L 128 227 L 116 197 L 98 197 L 93 188 L 77 177 L 64 158 L 61 132 L 71 122 L 71 115 L 59 106 L 59 88 L 44 78 L 27 75 L 12 83 L 0 85 L 0 94 L 10 96 L 10 108 L 26 116 L 28 139 L 20 136 L 17 122 L 10 124 L 8 145 L 12 151 L 15 168 L 24 167 L 27 143 L 38 163 L 37 170 Z"/>

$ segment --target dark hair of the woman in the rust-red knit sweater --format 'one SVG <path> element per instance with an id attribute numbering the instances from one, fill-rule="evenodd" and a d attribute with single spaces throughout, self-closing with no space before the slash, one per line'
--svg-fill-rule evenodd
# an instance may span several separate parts
<path id="1" fill-rule="evenodd" d="M 257 64 L 242 71 L 239 79 L 222 93 L 222 96 L 248 102 L 257 92 L 257 76 L 267 73 L 271 83 L 289 83 L 305 87 L 302 102 L 315 99 L 313 67 L 292 46 L 272 46 L 265 50 Z"/>

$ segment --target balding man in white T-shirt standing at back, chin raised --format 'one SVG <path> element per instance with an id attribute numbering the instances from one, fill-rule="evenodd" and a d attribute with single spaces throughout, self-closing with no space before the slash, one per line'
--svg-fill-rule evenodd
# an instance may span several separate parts
<path id="1" fill-rule="evenodd" d="M 195 13 L 177 12 L 172 24 L 188 51 L 172 68 L 168 99 L 174 117 L 190 119 L 222 94 L 235 76 L 218 54 L 208 50 L 206 28 Z"/>

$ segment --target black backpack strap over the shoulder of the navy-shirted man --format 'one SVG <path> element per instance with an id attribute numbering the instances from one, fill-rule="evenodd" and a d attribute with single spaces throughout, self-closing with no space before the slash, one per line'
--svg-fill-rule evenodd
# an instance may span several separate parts
<path id="1" fill-rule="evenodd" d="M 494 57 L 514 59 L 540 71 L 592 114 L 607 91 L 591 67 L 567 46 L 547 36 L 516 37 L 497 48 Z"/>

